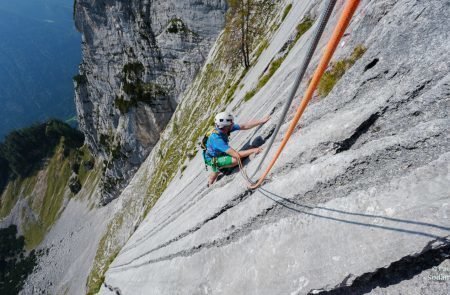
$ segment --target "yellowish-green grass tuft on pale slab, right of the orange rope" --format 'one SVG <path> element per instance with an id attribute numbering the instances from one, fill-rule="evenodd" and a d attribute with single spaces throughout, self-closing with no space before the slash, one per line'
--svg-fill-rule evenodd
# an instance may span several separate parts
<path id="1" fill-rule="evenodd" d="M 344 76 L 345 72 L 363 56 L 364 52 L 366 52 L 366 48 L 363 45 L 358 45 L 354 48 L 350 57 L 331 63 L 330 69 L 320 79 L 317 87 L 319 95 L 322 97 L 327 96 L 339 79 Z"/>

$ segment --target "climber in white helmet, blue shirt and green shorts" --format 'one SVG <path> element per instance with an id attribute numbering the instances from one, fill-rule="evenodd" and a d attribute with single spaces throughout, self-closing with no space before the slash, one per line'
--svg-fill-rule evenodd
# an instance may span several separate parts
<path id="1" fill-rule="evenodd" d="M 234 124 L 233 115 L 228 112 L 221 112 L 214 118 L 215 128 L 211 134 L 205 137 L 205 150 L 203 158 L 208 166 L 211 166 L 212 173 L 208 178 L 208 186 L 212 185 L 219 176 L 219 169 L 231 168 L 238 165 L 238 158 L 245 158 L 251 154 L 258 154 L 262 151 L 260 147 L 251 148 L 237 152 L 228 145 L 230 133 L 238 130 L 247 130 L 265 124 L 270 120 L 267 116 L 261 120 L 254 120 L 244 124 Z"/>

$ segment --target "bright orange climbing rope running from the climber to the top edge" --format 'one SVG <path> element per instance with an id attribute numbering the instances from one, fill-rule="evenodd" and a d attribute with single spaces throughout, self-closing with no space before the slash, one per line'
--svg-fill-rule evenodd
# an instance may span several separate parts
<path id="1" fill-rule="evenodd" d="M 250 189 L 258 188 L 263 183 L 263 181 L 266 179 L 266 176 L 269 174 L 273 165 L 275 165 L 275 162 L 278 160 L 278 157 L 280 156 L 281 152 L 283 151 L 284 147 L 286 146 L 286 143 L 288 142 L 292 133 L 294 132 L 295 126 L 297 125 L 303 112 L 306 109 L 306 106 L 308 105 L 309 101 L 311 100 L 313 93 L 316 90 L 320 79 L 322 78 L 322 75 L 325 73 L 325 70 L 328 67 L 331 57 L 333 56 L 333 53 L 336 50 L 336 48 L 339 44 L 339 41 L 341 40 L 342 36 L 344 35 L 345 29 L 347 28 L 348 24 L 350 23 L 350 20 L 352 19 L 353 14 L 355 13 L 356 8 L 358 7 L 359 2 L 360 2 L 360 0 L 348 0 L 346 6 L 344 7 L 344 10 L 342 11 L 342 14 L 341 14 L 341 17 L 339 18 L 338 23 L 336 24 L 336 27 L 330 38 L 330 41 L 328 41 L 328 44 L 327 44 L 325 52 L 322 56 L 322 59 L 320 60 L 319 65 L 317 66 L 314 76 L 313 76 L 311 82 L 309 83 L 309 86 L 308 86 L 308 89 L 306 90 L 305 96 L 304 96 L 303 100 L 301 101 L 301 104 L 298 107 L 297 112 L 295 113 L 295 116 L 291 121 L 291 124 L 289 125 L 289 129 L 286 131 L 283 141 L 281 142 L 280 147 L 276 151 L 275 156 L 272 158 L 272 161 L 270 162 L 269 166 L 267 167 L 267 169 L 264 171 L 263 175 L 259 178 L 259 180 L 256 183 L 253 183 L 248 178 L 248 176 L 244 170 L 244 167 L 242 166 L 242 163 L 239 159 L 239 167 L 241 169 L 241 172 L 242 172 L 244 178 L 246 178 L 246 180 L 249 182 L 248 188 L 250 188 Z"/>

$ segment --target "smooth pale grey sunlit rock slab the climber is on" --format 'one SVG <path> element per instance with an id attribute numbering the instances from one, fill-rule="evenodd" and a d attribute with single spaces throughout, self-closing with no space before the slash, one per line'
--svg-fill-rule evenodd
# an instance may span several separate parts
<path id="1" fill-rule="evenodd" d="M 291 13 L 319 2 L 294 2 Z M 195 158 L 110 265 L 100 294 L 449 294 L 449 8 L 361 1 L 334 61 L 360 44 L 367 51 L 311 102 L 267 182 L 250 191 L 234 173 L 206 188 Z M 277 40 L 288 39 L 292 19 Z M 279 116 L 310 39 L 237 108 L 239 122 Z M 279 48 L 271 42 L 261 59 Z M 272 127 L 239 133 L 231 146 Z"/>

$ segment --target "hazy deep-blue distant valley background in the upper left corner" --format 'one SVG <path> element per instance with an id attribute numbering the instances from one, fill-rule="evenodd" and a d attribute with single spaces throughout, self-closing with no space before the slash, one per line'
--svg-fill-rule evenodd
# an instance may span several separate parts
<path id="1" fill-rule="evenodd" d="M 74 0 L 0 0 L 0 140 L 12 129 L 75 116 L 81 61 Z"/>

